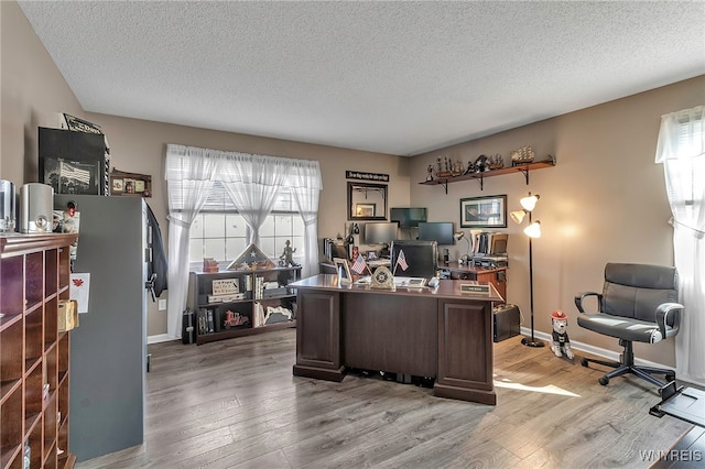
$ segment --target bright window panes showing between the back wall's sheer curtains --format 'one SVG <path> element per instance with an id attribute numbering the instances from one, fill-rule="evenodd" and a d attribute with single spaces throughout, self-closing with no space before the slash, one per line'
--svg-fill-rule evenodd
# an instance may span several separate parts
<path id="1" fill-rule="evenodd" d="M 237 208 L 218 182 L 200 212 L 191 226 L 188 262 L 192 269 L 200 269 L 203 258 L 214 258 L 227 265 L 247 248 L 248 227 Z M 279 259 L 284 242 L 295 248 L 294 259 L 303 258 L 304 222 L 296 211 L 291 193 L 282 188 L 272 212 L 260 228 L 260 248 L 272 259 Z"/>

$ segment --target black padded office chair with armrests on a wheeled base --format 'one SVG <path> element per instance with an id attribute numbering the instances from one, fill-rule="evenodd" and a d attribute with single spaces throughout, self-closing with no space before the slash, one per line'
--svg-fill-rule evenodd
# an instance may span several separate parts
<path id="1" fill-rule="evenodd" d="M 586 358 L 581 361 L 583 367 L 595 362 L 616 369 L 598 380 L 601 385 L 607 385 L 610 378 L 626 373 L 633 373 L 659 388 L 666 383 L 651 374 L 664 374 L 666 382 L 675 379 L 672 370 L 637 367 L 632 342 L 655 343 L 677 334 L 683 310 L 676 303 L 677 283 L 675 268 L 608 263 L 603 293 L 585 292 L 575 297 L 575 306 L 581 312 L 578 326 L 616 337 L 625 348 L 619 362 Z M 588 296 L 597 296 L 597 313 L 585 313 L 583 301 Z"/>

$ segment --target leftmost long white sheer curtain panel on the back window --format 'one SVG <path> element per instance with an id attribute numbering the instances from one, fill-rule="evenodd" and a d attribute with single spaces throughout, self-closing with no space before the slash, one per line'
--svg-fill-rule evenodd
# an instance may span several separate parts
<path id="1" fill-rule="evenodd" d="M 182 314 L 188 292 L 188 232 L 218 174 L 218 152 L 182 145 L 166 146 L 169 193 L 169 303 L 166 334 L 181 337 Z"/>

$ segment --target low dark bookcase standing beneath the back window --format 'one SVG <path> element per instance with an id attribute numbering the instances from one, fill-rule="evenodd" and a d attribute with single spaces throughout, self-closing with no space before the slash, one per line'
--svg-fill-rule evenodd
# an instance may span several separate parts
<path id="1" fill-rule="evenodd" d="M 187 307 L 194 312 L 196 343 L 296 326 L 301 266 L 191 272 Z"/>

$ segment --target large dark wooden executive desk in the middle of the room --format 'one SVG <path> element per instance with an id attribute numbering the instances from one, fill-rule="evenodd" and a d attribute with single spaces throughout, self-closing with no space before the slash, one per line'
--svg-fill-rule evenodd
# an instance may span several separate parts
<path id="1" fill-rule="evenodd" d="M 290 284 L 294 375 L 339 382 L 348 367 L 435 378 L 434 395 L 495 405 L 492 302 L 502 298 L 494 286 L 489 295 L 460 294 L 460 283 L 387 291 L 321 274 Z"/>

